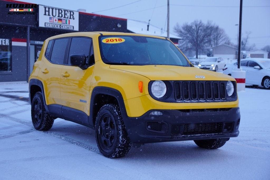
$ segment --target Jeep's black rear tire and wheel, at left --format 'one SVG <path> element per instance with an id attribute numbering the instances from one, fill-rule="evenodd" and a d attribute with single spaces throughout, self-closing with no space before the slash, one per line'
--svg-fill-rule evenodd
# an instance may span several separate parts
<path id="1" fill-rule="evenodd" d="M 45 110 L 41 92 L 37 92 L 31 104 L 32 123 L 36 130 L 47 131 L 51 129 L 54 119 Z"/>

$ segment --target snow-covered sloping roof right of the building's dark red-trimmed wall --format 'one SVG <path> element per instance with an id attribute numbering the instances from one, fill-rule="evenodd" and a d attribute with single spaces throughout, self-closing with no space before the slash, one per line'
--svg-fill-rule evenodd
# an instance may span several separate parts
<path id="1" fill-rule="evenodd" d="M 161 28 L 151 24 L 149 24 L 149 31 L 147 31 L 147 25 L 148 23 L 145 21 L 127 19 L 127 29 L 131 32 L 167 37 L 167 31 L 162 30 L 163 32 L 161 32 Z M 172 33 L 170 33 L 170 38 L 182 39 L 181 37 L 176 36 Z"/>

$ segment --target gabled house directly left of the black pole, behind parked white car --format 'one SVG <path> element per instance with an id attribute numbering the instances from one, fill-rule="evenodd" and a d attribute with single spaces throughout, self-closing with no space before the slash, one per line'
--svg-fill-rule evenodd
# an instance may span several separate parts
<path id="1" fill-rule="evenodd" d="M 212 54 L 215 57 L 222 57 L 224 60 L 226 59 L 236 59 L 237 48 L 227 45 L 220 44 L 212 47 Z"/>

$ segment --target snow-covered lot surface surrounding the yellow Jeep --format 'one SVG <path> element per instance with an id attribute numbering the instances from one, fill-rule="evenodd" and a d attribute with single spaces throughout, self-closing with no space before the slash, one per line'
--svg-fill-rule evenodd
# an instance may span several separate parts
<path id="1" fill-rule="evenodd" d="M 240 134 L 217 150 L 155 143 L 108 159 L 90 128 L 56 119 L 51 130 L 36 131 L 28 84 L 0 83 L 0 179 L 269 179 L 270 90 L 238 95 Z"/>

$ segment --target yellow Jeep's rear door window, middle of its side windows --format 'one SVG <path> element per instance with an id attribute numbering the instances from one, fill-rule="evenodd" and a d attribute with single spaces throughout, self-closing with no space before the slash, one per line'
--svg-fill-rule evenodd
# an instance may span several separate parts
<path id="1" fill-rule="evenodd" d="M 53 44 L 52 56 L 50 61 L 57 64 L 64 64 L 66 46 L 68 38 L 56 39 Z"/>

